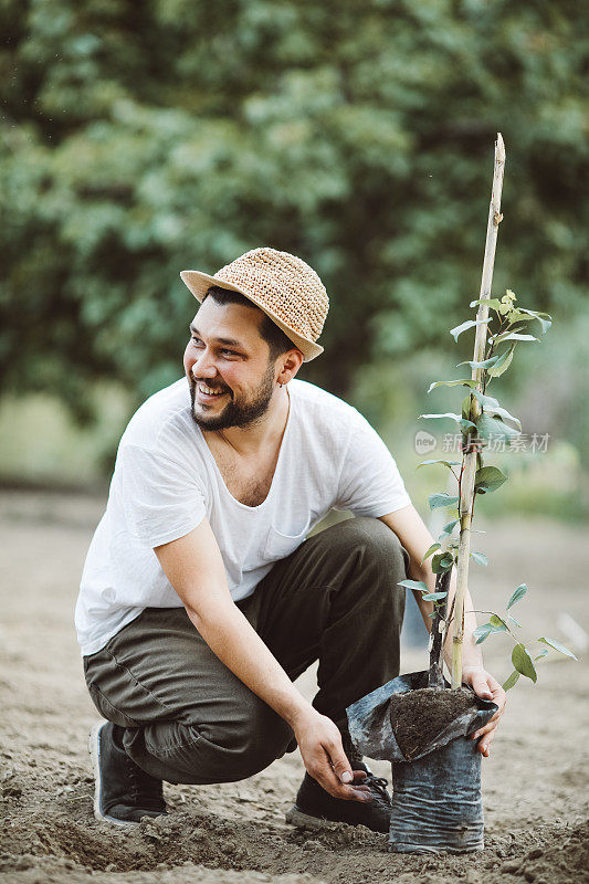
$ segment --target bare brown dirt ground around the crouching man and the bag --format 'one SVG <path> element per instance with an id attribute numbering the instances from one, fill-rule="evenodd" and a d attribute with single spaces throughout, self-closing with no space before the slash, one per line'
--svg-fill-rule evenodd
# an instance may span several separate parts
<path id="1" fill-rule="evenodd" d="M 67 884 L 466 884 L 589 882 L 588 654 L 539 665 L 536 686 L 509 693 L 491 759 L 483 760 L 486 848 L 476 854 L 389 854 L 385 835 L 339 825 L 323 833 L 286 825 L 303 774 L 298 753 L 252 779 L 222 786 L 166 786 L 162 822 L 132 832 L 94 820 L 87 732 L 97 719 L 82 677 L 72 617 L 82 564 L 102 513 L 97 498 L 4 493 L 0 504 L 1 800 L 0 881 Z M 528 636 L 559 629 L 566 612 L 589 631 L 587 529 L 547 520 L 478 528 L 472 566 L 481 608 L 529 592 L 516 615 Z M 484 600 L 484 601 L 483 601 Z M 485 643 L 497 677 L 511 672 L 502 636 Z M 406 649 L 403 671 L 424 652 Z M 302 687 L 313 692 L 313 673 Z M 390 779 L 385 762 L 375 769 Z"/>

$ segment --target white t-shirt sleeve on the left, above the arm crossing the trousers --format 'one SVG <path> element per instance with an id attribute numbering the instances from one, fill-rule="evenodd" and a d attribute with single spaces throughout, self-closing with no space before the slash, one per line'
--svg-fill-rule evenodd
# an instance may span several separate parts
<path id="1" fill-rule="evenodd" d="M 150 547 L 183 537 L 207 515 L 196 472 L 138 445 L 119 449 L 114 485 L 126 529 Z"/>

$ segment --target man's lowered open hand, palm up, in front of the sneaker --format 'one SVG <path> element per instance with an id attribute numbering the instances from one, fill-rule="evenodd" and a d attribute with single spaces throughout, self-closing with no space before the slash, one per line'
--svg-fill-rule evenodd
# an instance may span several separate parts
<path id="1" fill-rule="evenodd" d="M 361 782 L 366 774 L 351 769 L 341 734 L 330 718 L 309 707 L 293 728 L 305 768 L 326 792 L 344 801 L 372 801 L 372 793 Z"/>

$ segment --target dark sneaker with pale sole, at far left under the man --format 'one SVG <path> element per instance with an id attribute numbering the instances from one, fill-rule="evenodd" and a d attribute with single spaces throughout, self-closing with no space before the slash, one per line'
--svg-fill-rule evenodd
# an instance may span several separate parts
<path id="1" fill-rule="evenodd" d="M 94 767 L 94 815 L 116 825 L 138 823 L 141 817 L 166 813 L 161 780 L 137 767 L 120 739 L 122 728 L 101 722 L 90 735 Z"/>

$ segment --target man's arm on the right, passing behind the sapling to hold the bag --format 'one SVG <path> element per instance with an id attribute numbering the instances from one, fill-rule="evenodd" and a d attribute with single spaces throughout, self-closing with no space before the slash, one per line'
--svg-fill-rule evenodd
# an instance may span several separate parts
<path id="1" fill-rule="evenodd" d="M 404 506 L 402 509 L 397 509 L 395 513 L 389 513 L 387 516 L 381 516 L 380 520 L 385 523 L 398 536 L 401 545 L 407 549 L 410 558 L 409 571 L 412 580 L 422 580 L 430 589 L 434 591 L 435 575 L 431 569 L 431 557 L 425 559 L 423 564 L 421 560 L 430 546 L 434 543 L 433 537 L 425 527 L 423 519 L 417 512 L 413 505 Z M 449 587 L 449 607 L 456 591 L 456 572 L 452 569 L 450 576 Z M 423 601 L 421 592 L 414 592 L 416 600 L 419 604 L 423 622 L 428 631 L 431 631 L 431 619 L 429 614 L 433 611 L 433 602 Z M 485 699 L 492 699 L 497 704 L 498 712 L 495 713 L 493 718 L 485 727 L 482 727 L 472 739 L 483 737 L 478 743 L 478 751 L 488 757 L 490 745 L 495 736 L 495 728 L 498 719 L 505 708 L 506 695 L 505 691 L 497 681 L 484 667 L 483 655 L 481 649 L 475 644 L 473 638 L 473 630 L 476 627 L 476 615 L 473 611 L 473 604 L 470 592 L 466 593 L 464 602 L 464 645 L 463 645 L 463 665 L 462 677 L 466 684 L 470 684 L 473 691 Z M 444 648 L 444 657 L 446 664 L 451 665 L 452 660 L 452 635 L 449 634 Z"/>

